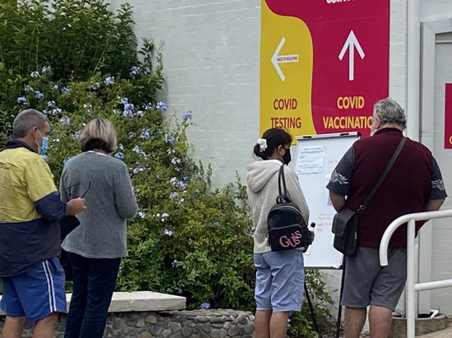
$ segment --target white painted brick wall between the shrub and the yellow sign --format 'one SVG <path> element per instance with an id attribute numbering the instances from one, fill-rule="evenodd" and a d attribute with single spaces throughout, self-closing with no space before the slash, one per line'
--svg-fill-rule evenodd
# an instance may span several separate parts
<path id="1" fill-rule="evenodd" d="M 113 1 L 118 6 L 121 1 Z M 138 37 L 163 41 L 166 91 L 213 185 L 243 177 L 259 133 L 259 0 L 131 1 Z"/>

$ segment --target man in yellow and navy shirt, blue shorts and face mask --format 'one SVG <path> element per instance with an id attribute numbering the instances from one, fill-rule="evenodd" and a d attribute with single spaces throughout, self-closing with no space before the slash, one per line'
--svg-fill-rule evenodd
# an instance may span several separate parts
<path id="1" fill-rule="evenodd" d="M 3 337 L 21 337 L 25 319 L 35 323 L 36 337 L 54 337 L 58 312 L 66 312 L 59 221 L 83 211 L 85 201 L 60 200 L 49 166 L 50 123 L 37 110 L 20 112 L 14 140 L 0 152 L 1 308 Z"/>

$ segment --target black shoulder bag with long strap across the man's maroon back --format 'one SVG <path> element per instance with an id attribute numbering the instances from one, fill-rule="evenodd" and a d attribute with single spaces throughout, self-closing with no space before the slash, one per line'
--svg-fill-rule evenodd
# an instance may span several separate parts
<path id="1" fill-rule="evenodd" d="M 377 192 L 380 185 L 385 180 L 389 170 L 391 170 L 392 165 L 396 162 L 398 155 L 401 153 L 403 145 L 406 142 L 406 138 L 402 137 L 401 142 L 398 144 L 396 150 L 392 154 L 392 158 L 389 160 L 385 170 L 382 172 L 380 179 L 373 186 L 369 195 L 367 195 L 364 203 L 360 205 L 360 207 L 355 210 L 350 210 L 348 208 L 343 208 L 337 214 L 334 215 L 332 219 L 332 228 L 331 231 L 334 233 L 334 242 L 333 246 L 337 251 L 344 253 L 347 256 L 355 256 L 357 249 L 357 229 L 358 229 L 358 217 L 362 214 L 373 195 Z"/>

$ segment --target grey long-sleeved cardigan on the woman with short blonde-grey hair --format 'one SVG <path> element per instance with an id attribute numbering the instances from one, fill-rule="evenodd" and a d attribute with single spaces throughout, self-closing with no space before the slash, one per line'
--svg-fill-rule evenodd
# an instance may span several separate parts
<path id="1" fill-rule="evenodd" d="M 67 160 L 60 180 L 63 201 L 88 190 L 86 210 L 77 215 L 80 226 L 65 238 L 65 251 L 88 258 L 127 256 L 126 219 L 138 210 L 127 166 L 95 151 Z"/>

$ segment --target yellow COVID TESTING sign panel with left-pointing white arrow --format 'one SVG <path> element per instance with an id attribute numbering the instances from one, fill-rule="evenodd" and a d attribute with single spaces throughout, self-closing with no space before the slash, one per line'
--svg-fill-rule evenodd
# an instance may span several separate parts
<path id="1" fill-rule="evenodd" d="M 262 0 L 261 134 L 285 128 L 291 135 L 314 134 L 311 110 L 312 40 L 296 17 L 273 13 Z M 265 25 L 264 25 L 265 22 Z M 295 140 L 294 140 L 295 141 Z"/>

